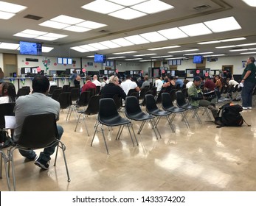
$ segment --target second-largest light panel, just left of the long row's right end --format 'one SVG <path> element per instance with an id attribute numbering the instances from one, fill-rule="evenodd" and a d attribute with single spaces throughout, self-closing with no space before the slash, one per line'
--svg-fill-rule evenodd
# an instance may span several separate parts
<path id="1" fill-rule="evenodd" d="M 190 37 L 212 34 L 211 30 L 208 29 L 203 23 L 180 26 L 179 29 Z"/>

